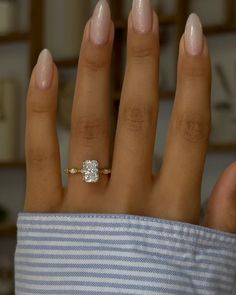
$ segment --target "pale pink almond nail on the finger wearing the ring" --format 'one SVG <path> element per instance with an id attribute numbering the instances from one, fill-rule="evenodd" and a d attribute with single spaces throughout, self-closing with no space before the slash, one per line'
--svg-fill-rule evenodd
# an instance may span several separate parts
<path id="1" fill-rule="evenodd" d="M 109 39 L 111 10 L 106 0 L 99 0 L 92 16 L 90 38 L 93 43 L 102 45 Z"/>

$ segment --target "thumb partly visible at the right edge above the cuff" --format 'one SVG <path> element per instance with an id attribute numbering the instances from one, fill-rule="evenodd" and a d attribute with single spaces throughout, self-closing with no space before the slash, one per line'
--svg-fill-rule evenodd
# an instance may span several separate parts
<path id="1" fill-rule="evenodd" d="M 214 186 L 203 224 L 236 233 L 236 162 L 224 171 Z"/>

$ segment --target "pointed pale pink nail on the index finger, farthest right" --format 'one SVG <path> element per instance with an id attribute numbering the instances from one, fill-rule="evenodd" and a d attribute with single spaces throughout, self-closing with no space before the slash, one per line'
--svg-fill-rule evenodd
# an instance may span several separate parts
<path id="1" fill-rule="evenodd" d="M 203 50 L 203 31 L 199 17 L 190 14 L 185 27 L 185 48 L 190 55 L 200 55 Z"/>

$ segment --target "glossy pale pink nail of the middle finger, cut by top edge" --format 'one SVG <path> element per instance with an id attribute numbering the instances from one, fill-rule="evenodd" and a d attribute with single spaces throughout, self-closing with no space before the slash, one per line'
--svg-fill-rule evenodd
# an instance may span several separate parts
<path id="1" fill-rule="evenodd" d="M 152 29 L 152 6 L 150 0 L 133 0 L 133 25 L 139 33 L 148 33 Z"/>

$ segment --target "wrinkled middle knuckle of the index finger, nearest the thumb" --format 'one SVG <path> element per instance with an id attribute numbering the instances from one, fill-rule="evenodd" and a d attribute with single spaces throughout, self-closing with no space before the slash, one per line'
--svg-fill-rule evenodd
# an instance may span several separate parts
<path id="1" fill-rule="evenodd" d="M 207 142 L 210 126 L 200 115 L 184 114 L 174 120 L 174 130 L 187 142 Z"/>

